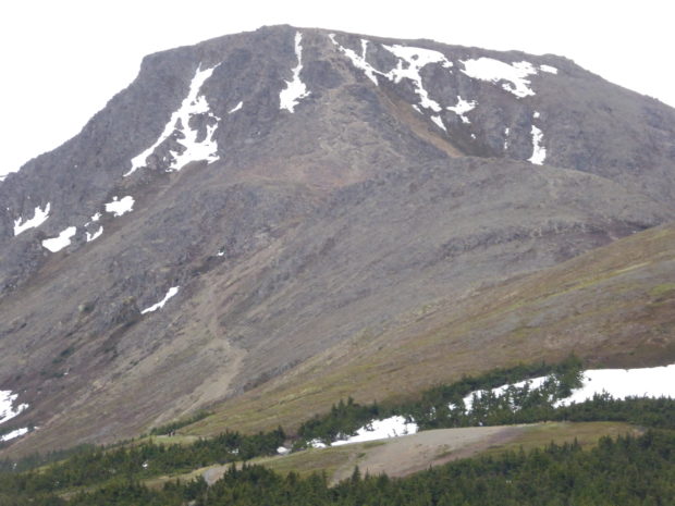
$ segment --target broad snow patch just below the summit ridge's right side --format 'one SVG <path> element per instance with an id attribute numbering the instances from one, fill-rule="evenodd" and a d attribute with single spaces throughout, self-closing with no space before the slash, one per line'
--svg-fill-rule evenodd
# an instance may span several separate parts
<path id="1" fill-rule="evenodd" d="M 502 84 L 502 88 L 518 98 L 535 95 L 527 77 L 537 74 L 537 69 L 529 62 L 521 61 L 508 64 L 482 57 L 477 60 L 465 60 L 462 63 L 464 64 L 462 72 L 469 77 L 491 83 L 506 81 L 507 83 Z"/>

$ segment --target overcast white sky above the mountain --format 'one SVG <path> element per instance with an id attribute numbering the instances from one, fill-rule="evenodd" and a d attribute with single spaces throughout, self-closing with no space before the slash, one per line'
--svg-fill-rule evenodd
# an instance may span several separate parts
<path id="1" fill-rule="evenodd" d="M 77 134 L 145 54 L 281 23 L 562 54 L 675 107 L 665 0 L 17 0 L 0 12 L 0 174 Z"/>

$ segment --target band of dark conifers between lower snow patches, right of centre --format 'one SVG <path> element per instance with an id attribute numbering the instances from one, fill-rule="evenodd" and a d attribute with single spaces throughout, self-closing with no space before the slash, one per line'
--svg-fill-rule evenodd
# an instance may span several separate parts
<path id="1" fill-rule="evenodd" d="M 520 387 L 510 386 L 500 395 L 491 390 L 504 384 L 548 374 L 544 383 L 531 388 L 529 383 Z M 330 412 L 303 423 L 298 430 L 300 440 L 295 448 L 302 448 L 311 440 L 324 443 L 344 435 L 352 435 L 373 418 L 393 415 L 415 420 L 420 430 L 459 427 L 505 425 L 541 421 L 622 421 L 642 427 L 675 429 L 675 402 L 667 398 L 614 399 L 610 395 L 596 395 L 586 403 L 556 407 L 560 399 L 580 386 L 581 363 L 569 357 L 556 366 L 545 363 L 498 369 L 478 378 L 464 378 L 450 385 L 439 385 L 421 394 L 418 402 L 379 406 L 361 406 L 353 399 L 340 402 Z M 464 405 L 464 397 L 474 395 L 471 409 Z"/>

